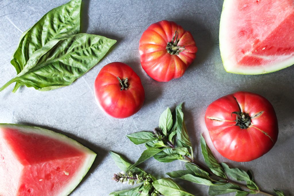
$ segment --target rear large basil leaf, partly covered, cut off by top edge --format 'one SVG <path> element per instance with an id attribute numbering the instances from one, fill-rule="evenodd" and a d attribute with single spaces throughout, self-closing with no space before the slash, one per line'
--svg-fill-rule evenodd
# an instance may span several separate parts
<path id="1" fill-rule="evenodd" d="M 30 56 L 48 41 L 74 35 L 80 30 L 81 0 L 52 9 L 22 36 L 11 64 L 19 74 Z"/>

